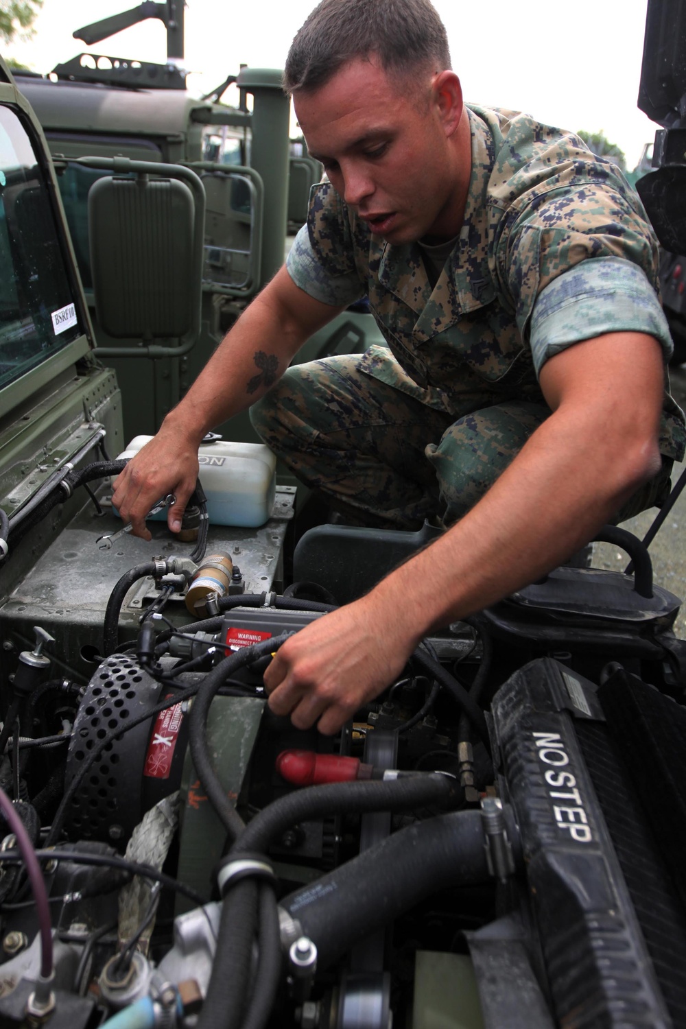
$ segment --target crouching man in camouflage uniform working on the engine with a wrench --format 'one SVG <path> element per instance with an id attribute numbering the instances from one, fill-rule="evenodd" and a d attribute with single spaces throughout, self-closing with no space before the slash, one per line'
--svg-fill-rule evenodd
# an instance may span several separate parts
<path id="1" fill-rule="evenodd" d="M 286 84 L 329 182 L 287 267 L 113 498 L 144 534 L 145 510 L 173 489 L 174 528 L 204 432 L 258 400 L 264 438 L 349 518 L 454 523 L 279 650 L 264 676 L 272 708 L 322 732 L 388 685 L 431 629 L 659 501 L 684 451 L 638 199 L 578 138 L 468 109 L 449 67 L 428 0 L 323 0 L 313 12 Z M 363 295 L 388 349 L 286 371 Z"/>

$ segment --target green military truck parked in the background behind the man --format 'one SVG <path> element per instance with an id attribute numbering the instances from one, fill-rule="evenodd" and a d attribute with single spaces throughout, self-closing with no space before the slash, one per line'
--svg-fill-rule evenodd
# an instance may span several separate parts
<path id="1" fill-rule="evenodd" d="M 143 3 L 74 36 L 100 43 L 146 17 L 164 22 L 168 63 L 155 65 L 106 55 L 79 54 L 49 74 L 16 78 L 45 133 L 92 321 L 98 356 L 123 387 L 128 437 L 153 433 L 181 398 L 246 303 L 284 260 L 288 232 L 304 222 L 310 187 L 321 166 L 301 140 L 289 141 L 290 104 L 274 69 L 237 69 L 212 94 L 186 90 L 183 4 Z M 222 103 L 232 91 L 234 106 Z M 250 109 L 249 109 L 250 108 Z M 293 152 L 291 152 L 293 151 Z M 98 318 L 88 253 L 87 194 L 103 174 L 83 156 L 192 168 L 206 191 L 201 330 L 178 341 L 110 335 Z M 381 336 L 368 313 L 352 311 L 305 345 L 299 360 L 357 352 Z M 152 350 L 150 349 L 152 347 Z M 160 349 L 160 347 L 163 349 Z M 231 438 L 254 440 L 247 418 L 233 421 Z"/>

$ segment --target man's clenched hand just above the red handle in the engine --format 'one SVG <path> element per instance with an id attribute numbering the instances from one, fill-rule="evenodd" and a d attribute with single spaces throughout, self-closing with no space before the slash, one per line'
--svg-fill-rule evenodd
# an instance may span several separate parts
<path id="1" fill-rule="evenodd" d="M 323 615 L 279 648 L 264 672 L 275 714 L 290 714 L 297 729 L 318 721 L 320 733 L 332 735 L 398 677 L 414 639 L 397 631 L 397 612 L 372 598 Z"/>

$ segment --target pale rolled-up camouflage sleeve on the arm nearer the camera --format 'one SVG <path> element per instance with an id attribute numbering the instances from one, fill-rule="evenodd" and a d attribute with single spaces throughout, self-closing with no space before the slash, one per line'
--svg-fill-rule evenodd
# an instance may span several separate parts
<path id="1" fill-rule="evenodd" d="M 674 349 L 659 299 L 637 264 L 599 257 L 553 279 L 536 297 L 531 316 L 531 349 L 536 374 L 567 347 L 606 332 L 645 332 Z"/>

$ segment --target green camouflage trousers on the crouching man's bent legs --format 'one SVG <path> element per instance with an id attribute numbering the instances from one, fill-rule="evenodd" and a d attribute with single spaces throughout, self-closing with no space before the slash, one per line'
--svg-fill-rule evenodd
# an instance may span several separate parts
<path id="1" fill-rule="evenodd" d="M 502 474 L 550 415 L 544 403 L 509 400 L 457 418 L 358 368 L 355 355 L 294 365 L 252 409 L 257 433 L 306 486 L 353 525 L 419 529 L 452 525 Z M 618 512 L 661 502 L 672 462 Z"/>

